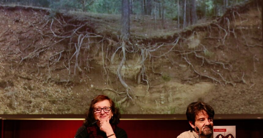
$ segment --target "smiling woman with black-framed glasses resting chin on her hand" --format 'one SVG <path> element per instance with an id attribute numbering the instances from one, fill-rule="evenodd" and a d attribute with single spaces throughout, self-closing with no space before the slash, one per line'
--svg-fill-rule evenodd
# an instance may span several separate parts
<path id="1" fill-rule="evenodd" d="M 127 138 L 126 132 L 117 127 L 120 122 L 119 109 L 112 99 L 99 95 L 91 101 L 83 126 L 75 138 Z"/>

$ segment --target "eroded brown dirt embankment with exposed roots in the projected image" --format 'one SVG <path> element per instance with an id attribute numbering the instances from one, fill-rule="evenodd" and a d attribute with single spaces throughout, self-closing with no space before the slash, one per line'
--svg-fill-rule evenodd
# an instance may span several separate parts
<path id="1" fill-rule="evenodd" d="M 112 27 L 119 16 L 89 15 L 81 21 L 46 9 L 0 10 L 0 114 L 83 114 L 95 95 L 124 99 L 116 76 L 118 31 Z M 217 114 L 262 114 L 261 15 L 253 7 L 234 15 L 225 24 L 189 27 L 191 33 L 183 31 L 187 35 L 179 35 L 178 42 L 177 35 L 167 35 L 174 23 L 167 21 L 166 30 L 144 26 L 146 31 L 136 34 L 143 26 L 133 16 L 132 42 L 148 55 L 143 65 L 140 52 L 127 56 L 121 73 L 134 102 L 118 104 L 121 112 L 184 114 L 189 103 L 205 101 Z"/>

